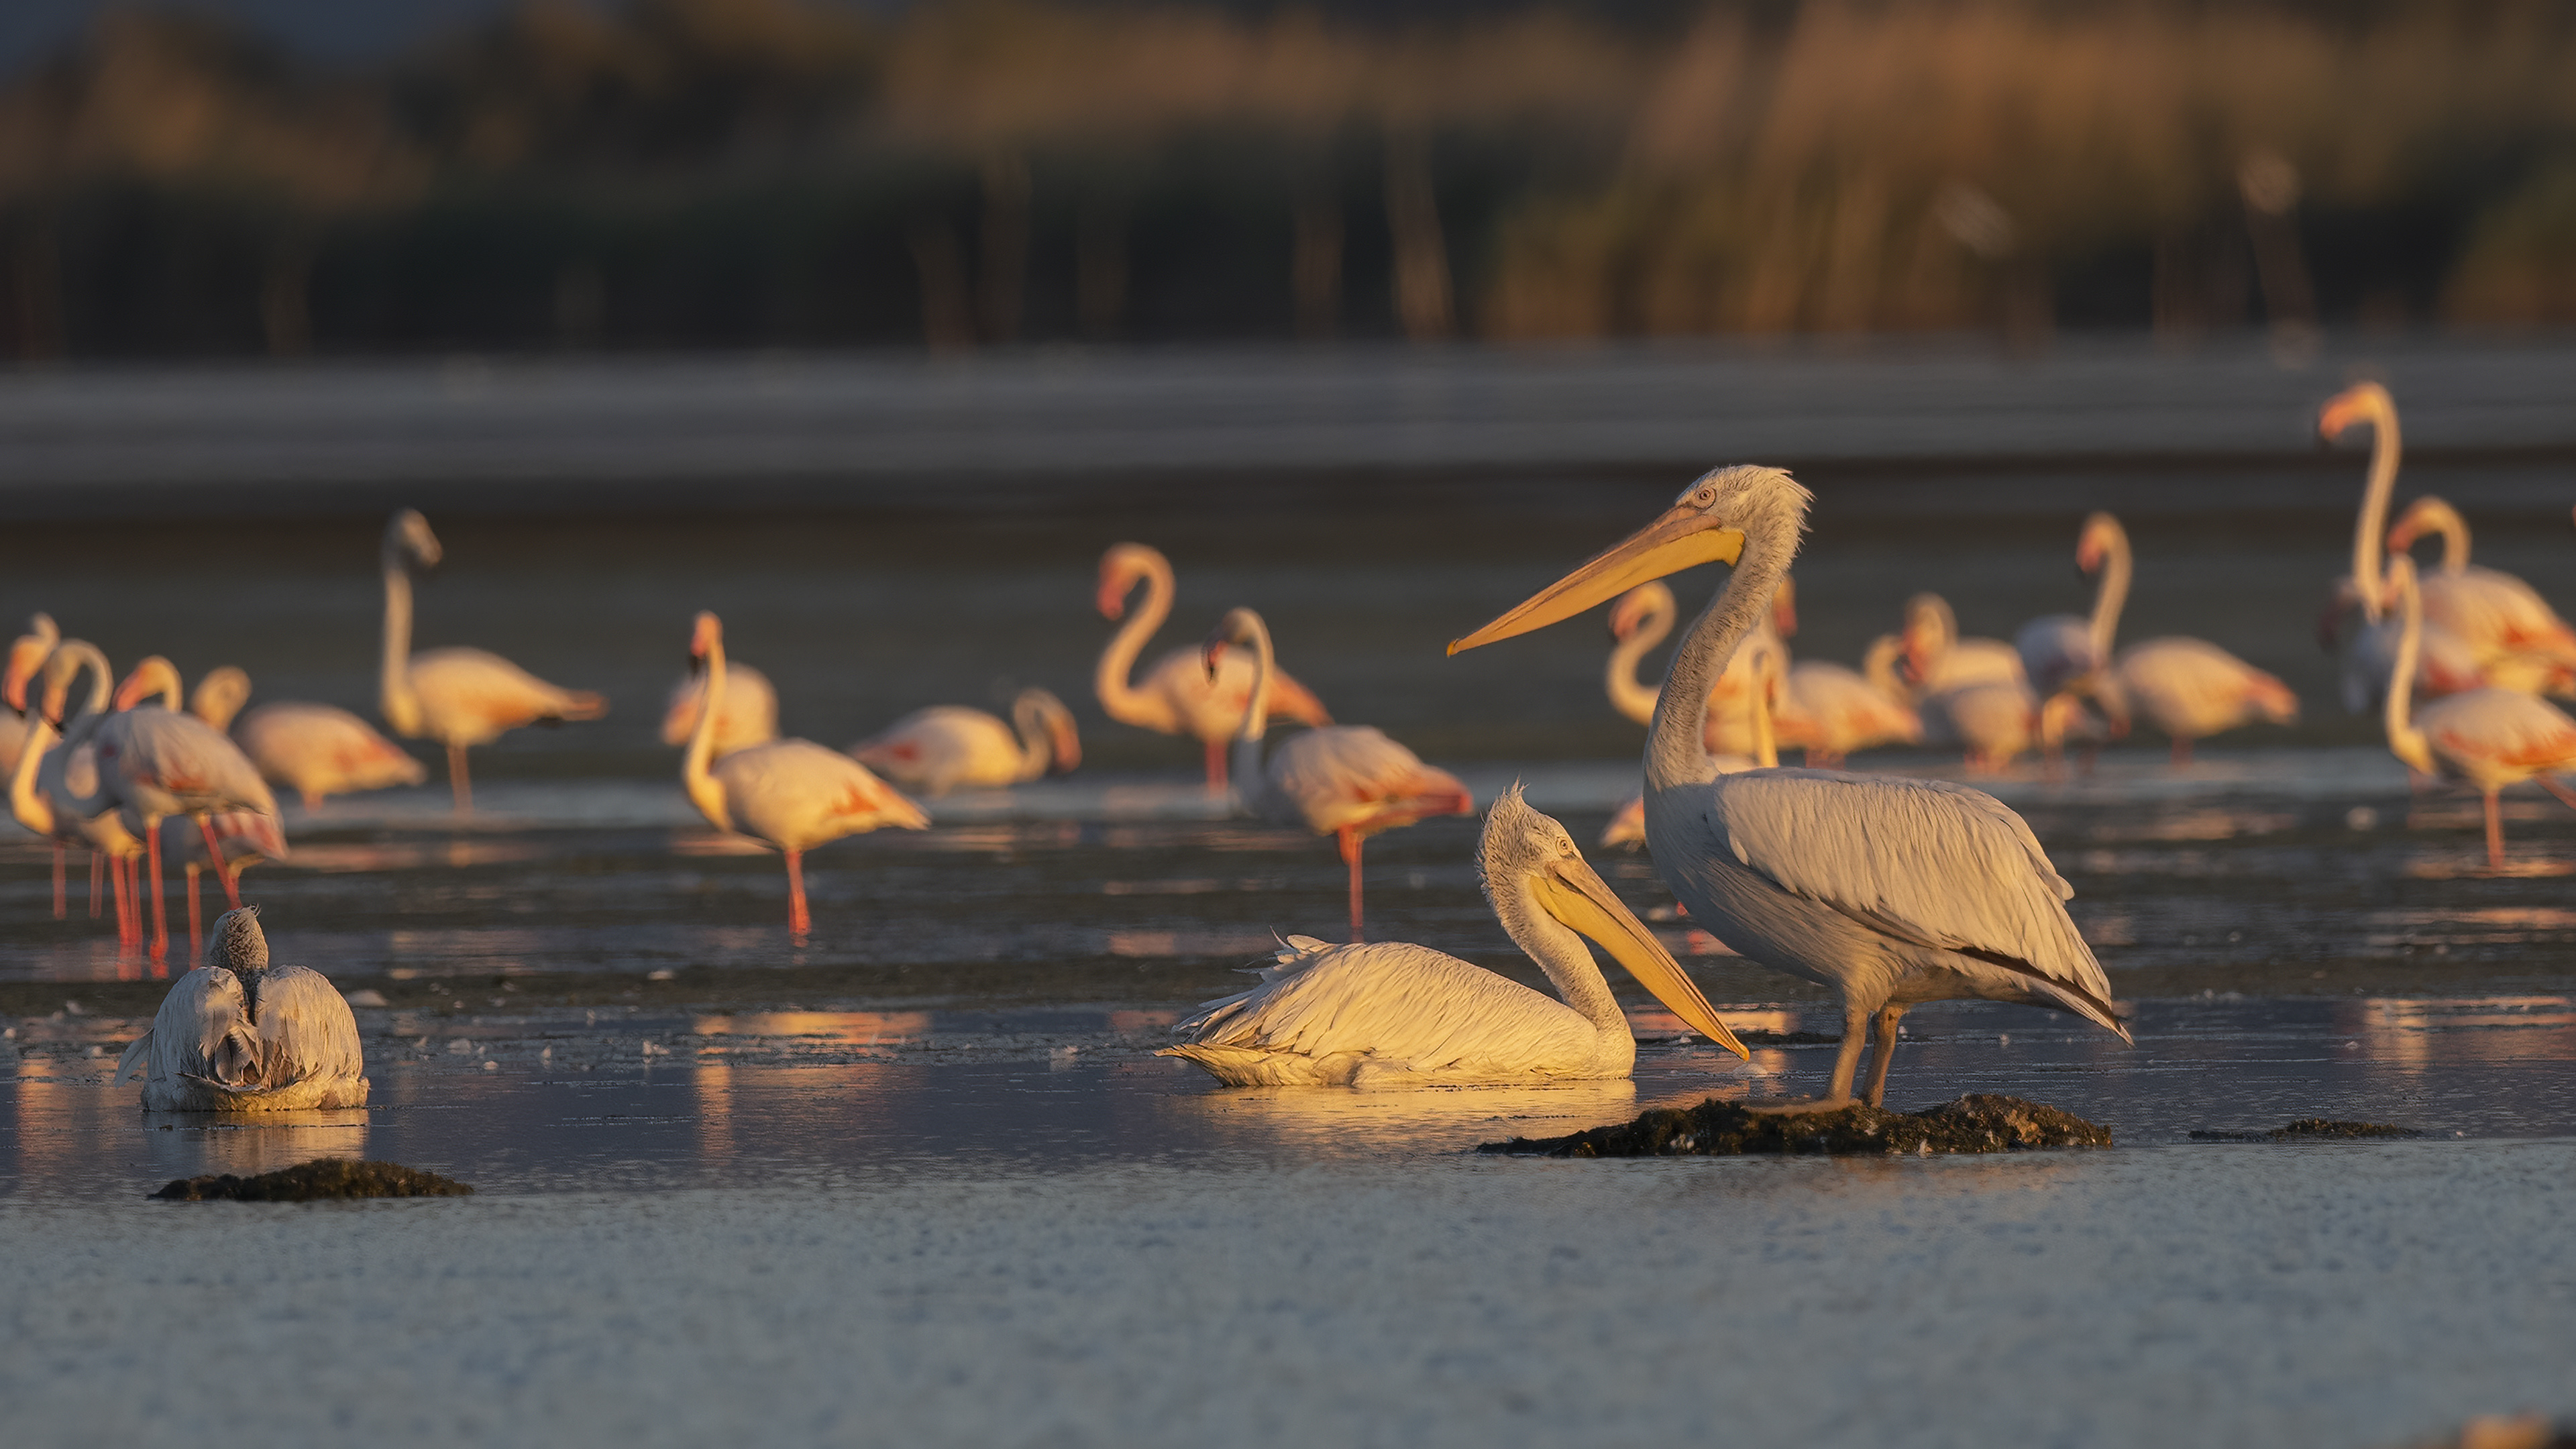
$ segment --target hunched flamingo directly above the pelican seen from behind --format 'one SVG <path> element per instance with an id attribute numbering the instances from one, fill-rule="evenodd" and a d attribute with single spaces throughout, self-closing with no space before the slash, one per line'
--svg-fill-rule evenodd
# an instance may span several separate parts
<path id="1" fill-rule="evenodd" d="M 149 694 L 160 694 L 160 704 L 142 704 Z M 111 810 L 121 810 L 126 828 L 144 838 L 144 859 L 152 866 L 155 962 L 170 957 L 160 822 L 173 815 L 196 820 L 206 838 L 206 859 L 214 864 L 216 879 L 224 882 L 224 900 L 240 910 L 242 890 L 224 864 L 224 846 L 214 838 L 209 817 L 227 810 L 252 810 L 270 817 L 278 812 L 258 766 L 219 730 L 193 714 L 180 714 L 178 699 L 178 668 L 152 655 L 134 665 L 134 673 L 116 688 L 116 714 L 95 732 L 100 799 Z"/>

